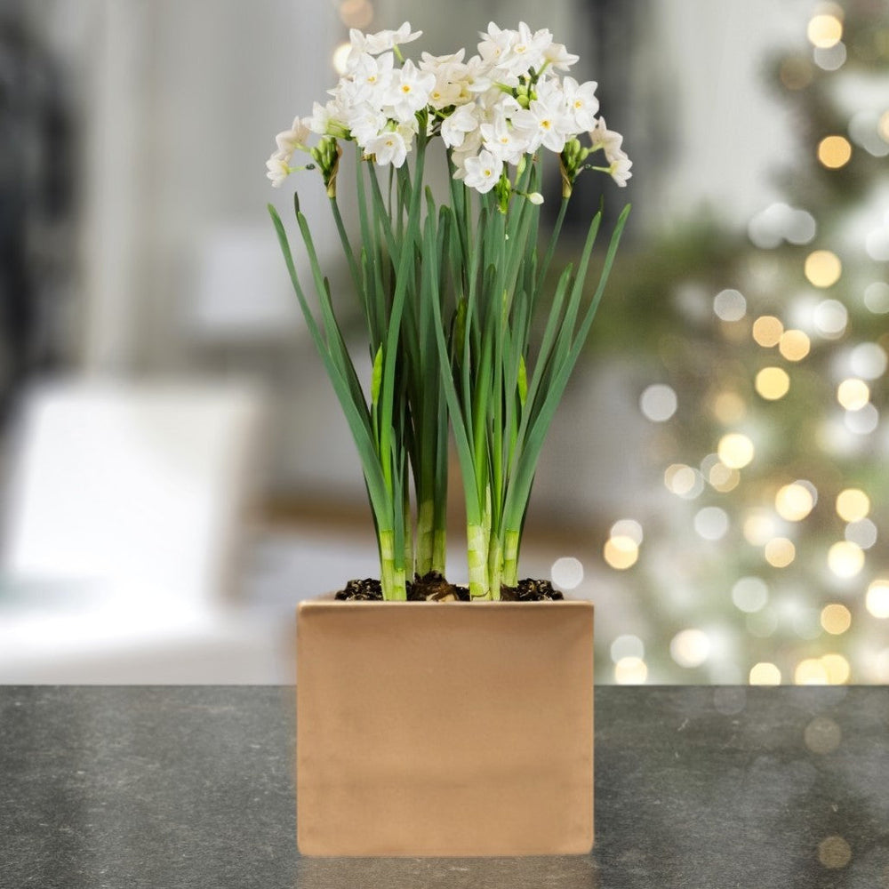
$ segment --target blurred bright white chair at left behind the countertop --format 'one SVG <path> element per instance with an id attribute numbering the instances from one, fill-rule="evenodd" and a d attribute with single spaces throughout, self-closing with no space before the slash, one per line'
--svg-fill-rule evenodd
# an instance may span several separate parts
<path id="1" fill-rule="evenodd" d="M 0 682 L 280 678 L 232 589 L 264 402 L 235 382 L 60 380 L 28 397 L 0 575 Z"/>

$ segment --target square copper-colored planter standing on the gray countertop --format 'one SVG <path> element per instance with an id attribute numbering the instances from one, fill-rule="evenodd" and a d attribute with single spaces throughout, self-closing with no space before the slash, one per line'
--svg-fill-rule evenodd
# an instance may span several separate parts
<path id="1" fill-rule="evenodd" d="M 300 604 L 307 855 L 543 855 L 593 844 L 593 605 Z"/>

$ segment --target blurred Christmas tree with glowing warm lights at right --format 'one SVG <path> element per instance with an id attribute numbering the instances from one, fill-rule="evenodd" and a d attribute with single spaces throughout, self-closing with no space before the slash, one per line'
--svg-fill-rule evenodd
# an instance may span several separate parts
<path id="1" fill-rule="evenodd" d="M 672 500 L 605 546 L 651 614 L 602 653 L 619 682 L 889 681 L 889 7 L 819 6 L 773 78 L 787 203 L 615 284 Z"/>

